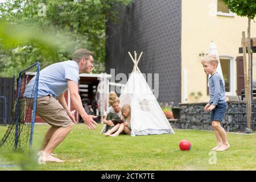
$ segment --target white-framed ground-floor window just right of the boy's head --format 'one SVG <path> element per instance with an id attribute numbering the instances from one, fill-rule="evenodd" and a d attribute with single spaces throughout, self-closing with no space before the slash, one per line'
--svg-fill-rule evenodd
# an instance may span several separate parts
<path id="1" fill-rule="evenodd" d="M 230 56 L 220 56 L 220 65 L 225 82 L 227 96 L 233 96 L 234 90 L 234 59 Z"/>

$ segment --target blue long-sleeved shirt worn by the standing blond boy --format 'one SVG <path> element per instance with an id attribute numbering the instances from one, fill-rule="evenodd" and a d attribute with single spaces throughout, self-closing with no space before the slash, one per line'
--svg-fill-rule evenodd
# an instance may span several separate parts
<path id="1" fill-rule="evenodd" d="M 218 72 L 209 78 L 209 93 L 209 104 L 218 105 L 226 102 L 225 86 Z"/>

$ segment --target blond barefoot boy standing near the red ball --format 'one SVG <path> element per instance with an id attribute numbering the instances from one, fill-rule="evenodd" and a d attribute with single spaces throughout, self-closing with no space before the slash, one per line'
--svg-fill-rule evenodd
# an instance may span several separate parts
<path id="1" fill-rule="evenodd" d="M 226 131 L 221 127 L 220 123 L 224 118 L 225 112 L 228 109 L 228 104 L 225 100 L 225 87 L 220 74 L 217 72 L 218 58 L 215 55 L 207 55 L 201 60 L 204 72 L 211 75 L 209 78 L 209 93 L 210 101 L 204 107 L 205 111 L 211 111 L 210 121 L 218 145 L 212 150 L 225 151 L 229 148 Z"/>

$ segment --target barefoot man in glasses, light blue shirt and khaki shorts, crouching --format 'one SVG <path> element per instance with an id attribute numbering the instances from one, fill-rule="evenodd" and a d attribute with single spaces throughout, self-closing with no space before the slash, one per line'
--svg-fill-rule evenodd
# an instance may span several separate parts
<path id="1" fill-rule="evenodd" d="M 75 109 L 87 128 L 92 130 L 96 127 L 97 123 L 93 118 L 97 116 L 85 112 L 78 88 L 79 74 L 90 73 L 92 69 L 93 53 L 86 49 L 78 49 L 73 53 L 72 60 L 49 65 L 40 71 L 36 113 L 51 125 L 43 140 L 40 162 L 63 162 L 53 157 L 52 151 L 67 137 L 73 123 L 76 123 L 75 110 L 70 111 L 65 101 L 64 93 L 67 89 Z"/>

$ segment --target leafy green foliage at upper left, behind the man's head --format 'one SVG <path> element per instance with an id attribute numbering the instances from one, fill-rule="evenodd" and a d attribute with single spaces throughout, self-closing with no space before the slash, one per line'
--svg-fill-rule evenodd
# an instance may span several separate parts
<path id="1" fill-rule="evenodd" d="M 105 71 L 106 22 L 117 20 L 118 4 L 133 0 L 12 0 L 0 3 L 0 77 L 39 61 L 72 59 L 78 48 L 94 52 L 94 73 Z"/>

